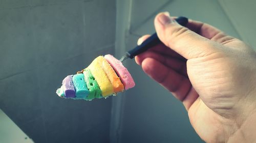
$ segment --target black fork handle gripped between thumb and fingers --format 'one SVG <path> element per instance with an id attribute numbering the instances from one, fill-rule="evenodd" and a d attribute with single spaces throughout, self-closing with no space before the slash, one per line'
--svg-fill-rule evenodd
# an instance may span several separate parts
<path id="1" fill-rule="evenodd" d="M 180 25 L 185 26 L 188 22 L 188 19 L 186 17 L 180 16 L 175 19 Z M 127 51 L 126 54 L 129 56 L 129 58 L 133 59 L 134 56 L 146 51 L 147 49 L 150 49 L 154 47 L 155 45 L 161 43 L 159 40 L 157 33 L 154 33 L 149 38 L 147 38 L 141 45 L 135 47 L 134 49 Z"/>

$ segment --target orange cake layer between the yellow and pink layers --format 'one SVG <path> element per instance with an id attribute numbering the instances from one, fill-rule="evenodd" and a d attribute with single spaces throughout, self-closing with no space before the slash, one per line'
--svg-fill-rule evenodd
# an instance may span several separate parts
<path id="1" fill-rule="evenodd" d="M 118 93 L 124 90 L 123 84 L 120 80 L 120 78 L 117 76 L 114 69 L 111 67 L 108 61 L 104 60 L 102 61 L 103 69 L 106 73 L 106 75 L 109 77 L 109 80 L 111 84 L 113 85 L 114 93 Z"/>

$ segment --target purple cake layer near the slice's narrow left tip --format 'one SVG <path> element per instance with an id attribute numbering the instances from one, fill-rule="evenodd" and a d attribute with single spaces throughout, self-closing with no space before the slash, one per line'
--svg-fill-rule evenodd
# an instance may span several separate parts
<path id="1" fill-rule="evenodd" d="M 66 98 L 75 98 L 75 88 L 72 81 L 73 75 L 68 75 L 66 78 L 62 81 L 63 91 L 65 93 Z"/>

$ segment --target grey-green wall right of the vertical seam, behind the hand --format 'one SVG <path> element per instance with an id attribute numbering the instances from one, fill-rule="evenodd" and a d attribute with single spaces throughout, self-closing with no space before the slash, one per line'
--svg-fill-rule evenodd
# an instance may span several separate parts
<path id="1" fill-rule="evenodd" d="M 128 23 L 120 22 L 123 24 L 122 29 L 126 30 L 123 42 L 126 49 L 135 47 L 140 36 L 155 32 L 154 17 L 163 11 L 168 11 L 173 16 L 186 16 L 212 24 L 225 33 L 246 41 L 256 49 L 255 40 L 252 40 L 256 35 L 256 20 L 252 18 L 255 17 L 253 11 L 256 5 L 253 0 L 134 0 L 123 5 L 129 8 L 118 9 L 117 12 L 123 12 L 123 15 L 117 19 L 128 19 Z M 118 56 L 118 52 L 116 54 Z M 183 105 L 146 76 L 140 66 L 131 61 L 125 61 L 125 64 L 135 79 L 136 87 L 120 97 L 122 99 L 119 102 L 122 106 L 120 111 L 116 112 L 120 115 L 117 119 L 120 124 L 116 127 L 119 132 L 114 141 L 203 142 L 191 127 Z"/>

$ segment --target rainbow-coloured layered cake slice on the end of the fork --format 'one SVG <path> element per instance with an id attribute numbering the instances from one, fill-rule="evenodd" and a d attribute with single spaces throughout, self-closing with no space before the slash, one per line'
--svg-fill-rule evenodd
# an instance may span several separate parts
<path id="1" fill-rule="evenodd" d="M 56 93 L 59 97 L 93 100 L 108 97 L 135 86 L 129 71 L 114 56 L 98 56 L 75 75 L 68 75 Z"/>

